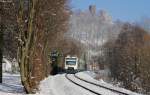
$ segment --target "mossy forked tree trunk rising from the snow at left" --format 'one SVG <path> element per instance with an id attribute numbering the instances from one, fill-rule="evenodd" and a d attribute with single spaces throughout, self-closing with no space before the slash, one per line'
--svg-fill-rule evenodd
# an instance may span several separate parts
<path id="1" fill-rule="evenodd" d="M 24 31 L 24 21 L 23 21 L 23 0 L 20 0 L 20 11 L 19 11 L 19 46 L 18 46 L 18 62 L 20 65 L 20 74 L 22 84 L 24 85 L 25 91 L 27 93 L 33 93 L 33 86 L 31 84 L 31 71 L 30 65 L 32 64 L 29 60 L 30 50 L 33 47 L 33 18 L 34 18 L 34 8 L 36 0 L 29 1 L 29 20 L 27 24 L 27 31 Z M 25 35 L 26 34 L 26 35 Z M 27 36 L 27 37 L 26 37 Z"/>

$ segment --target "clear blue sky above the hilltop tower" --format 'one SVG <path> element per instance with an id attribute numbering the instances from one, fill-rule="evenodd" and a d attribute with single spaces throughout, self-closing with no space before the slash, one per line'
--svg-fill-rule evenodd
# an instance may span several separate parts
<path id="1" fill-rule="evenodd" d="M 86 10 L 91 4 L 106 10 L 113 20 L 133 22 L 150 17 L 150 0 L 72 0 L 70 5 L 72 10 Z"/>

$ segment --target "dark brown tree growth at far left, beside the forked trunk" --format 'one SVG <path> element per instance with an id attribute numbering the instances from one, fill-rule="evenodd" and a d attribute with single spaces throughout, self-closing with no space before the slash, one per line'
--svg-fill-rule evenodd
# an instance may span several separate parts
<path id="1" fill-rule="evenodd" d="M 3 36 L 3 56 L 13 59 L 17 56 L 17 6 L 16 2 L 4 0 L 1 1 L 1 33 Z M 15 32 L 14 32 L 15 31 Z"/>

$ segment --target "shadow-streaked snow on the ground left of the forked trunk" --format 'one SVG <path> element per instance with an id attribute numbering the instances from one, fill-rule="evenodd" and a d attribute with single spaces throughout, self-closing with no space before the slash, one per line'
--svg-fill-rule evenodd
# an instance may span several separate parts
<path id="1" fill-rule="evenodd" d="M 20 75 L 3 74 L 3 83 L 0 84 L 0 95 L 23 95 L 24 93 Z"/>

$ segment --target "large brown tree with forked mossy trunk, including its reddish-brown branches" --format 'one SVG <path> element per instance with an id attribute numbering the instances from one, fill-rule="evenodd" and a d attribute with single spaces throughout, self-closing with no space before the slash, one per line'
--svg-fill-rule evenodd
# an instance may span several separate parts
<path id="1" fill-rule="evenodd" d="M 27 93 L 34 92 L 39 81 L 50 72 L 47 53 L 51 38 L 66 29 L 66 2 L 30 0 L 27 2 L 29 6 L 25 6 L 24 1 L 20 0 L 18 62 Z"/>

